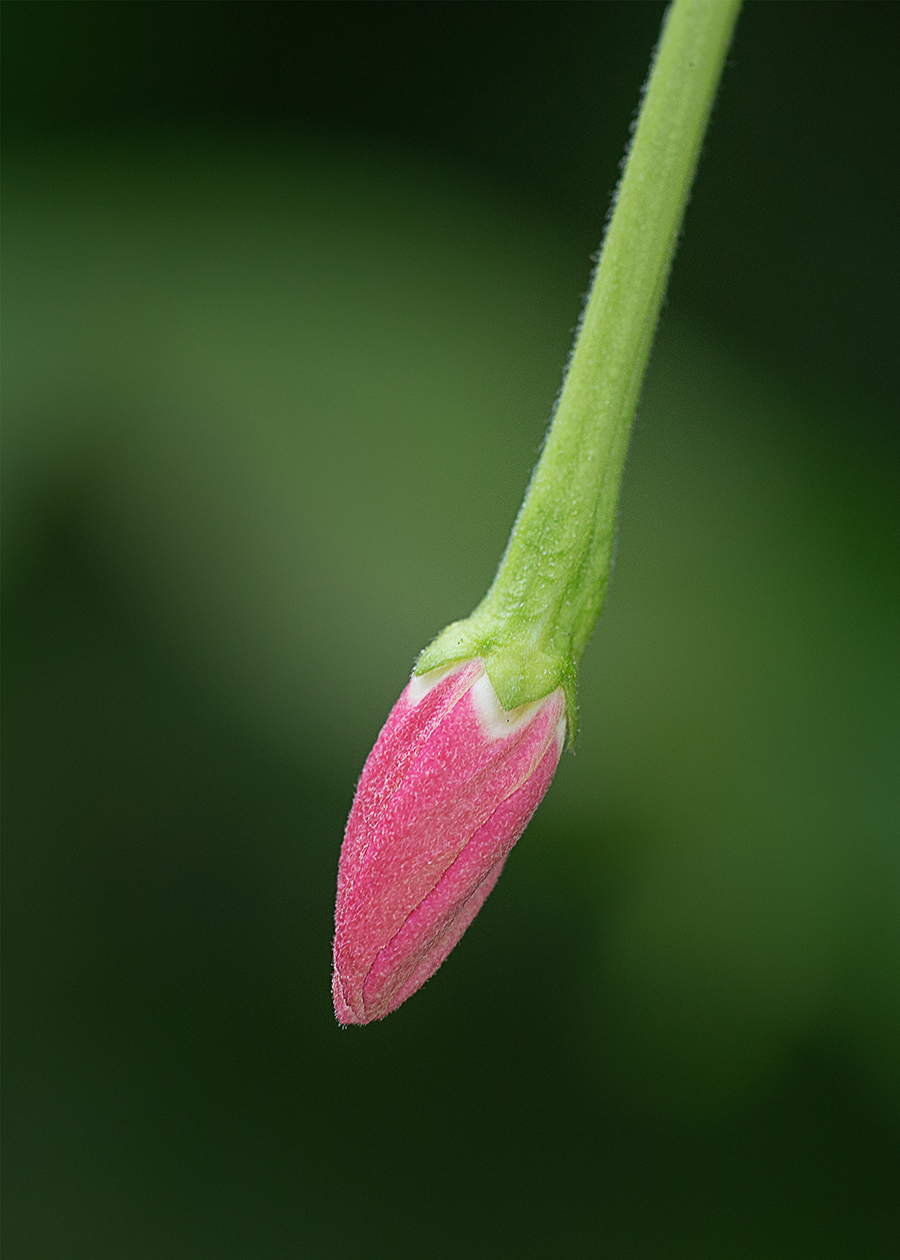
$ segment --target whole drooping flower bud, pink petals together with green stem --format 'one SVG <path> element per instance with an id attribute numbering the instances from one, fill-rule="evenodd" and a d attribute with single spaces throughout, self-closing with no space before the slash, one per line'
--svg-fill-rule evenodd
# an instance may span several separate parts
<path id="1" fill-rule="evenodd" d="M 497 883 L 576 730 L 632 421 L 740 0 L 674 0 L 545 447 L 484 600 L 425 649 L 357 788 L 334 1009 L 395 1011 Z"/>

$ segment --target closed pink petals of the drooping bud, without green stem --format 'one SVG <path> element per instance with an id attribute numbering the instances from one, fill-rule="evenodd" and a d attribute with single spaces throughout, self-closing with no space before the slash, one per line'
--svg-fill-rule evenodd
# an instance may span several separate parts
<path id="1" fill-rule="evenodd" d="M 547 791 L 562 688 L 505 712 L 484 663 L 413 677 L 369 753 L 340 852 L 334 1011 L 382 1019 L 441 965 Z"/>

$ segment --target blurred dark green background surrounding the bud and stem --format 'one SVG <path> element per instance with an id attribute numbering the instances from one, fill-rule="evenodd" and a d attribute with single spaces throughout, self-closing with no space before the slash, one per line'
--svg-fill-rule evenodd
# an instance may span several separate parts
<path id="1" fill-rule="evenodd" d="M 332 1014 L 662 14 L 4 5 L 10 1256 L 896 1255 L 897 5 L 746 5 L 576 753 Z"/>

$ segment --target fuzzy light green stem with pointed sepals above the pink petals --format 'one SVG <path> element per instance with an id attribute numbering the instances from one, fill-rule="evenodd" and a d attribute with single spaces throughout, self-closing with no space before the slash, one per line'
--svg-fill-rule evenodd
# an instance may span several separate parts
<path id="1" fill-rule="evenodd" d="M 487 596 L 416 673 L 485 660 L 504 708 L 566 688 L 600 616 L 632 421 L 740 0 L 674 0 L 543 452 Z"/>

